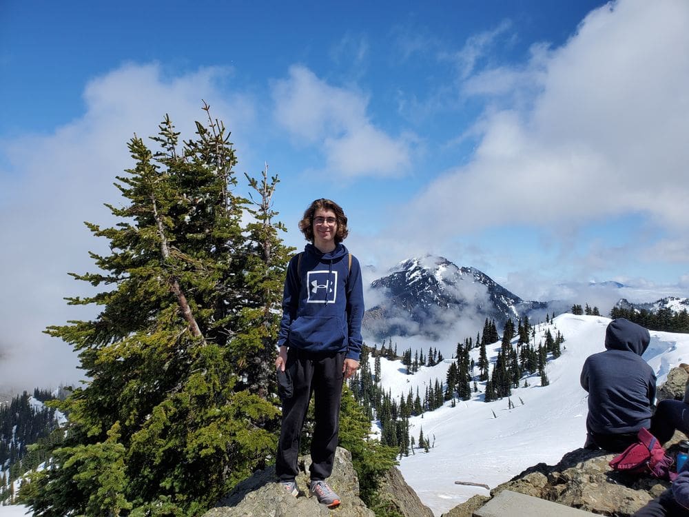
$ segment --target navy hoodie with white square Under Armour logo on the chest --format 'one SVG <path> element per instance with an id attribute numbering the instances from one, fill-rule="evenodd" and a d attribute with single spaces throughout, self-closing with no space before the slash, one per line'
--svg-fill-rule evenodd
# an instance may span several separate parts
<path id="1" fill-rule="evenodd" d="M 364 292 L 359 261 L 352 256 L 350 267 L 349 256 L 342 243 L 329 253 L 307 244 L 302 254 L 291 258 L 278 347 L 345 352 L 345 358 L 359 360 Z"/>

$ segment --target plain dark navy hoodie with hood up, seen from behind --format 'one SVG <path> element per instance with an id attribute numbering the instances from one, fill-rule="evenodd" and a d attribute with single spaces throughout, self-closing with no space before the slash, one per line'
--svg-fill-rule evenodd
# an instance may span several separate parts
<path id="1" fill-rule="evenodd" d="M 655 373 L 641 358 L 648 330 L 625 318 L 608 325 L 605 352 L 586 359 L 582 387 L 588 392 L 586 427 L 597 434 L 624 434 L 650 427 L 655 405 Z"/>

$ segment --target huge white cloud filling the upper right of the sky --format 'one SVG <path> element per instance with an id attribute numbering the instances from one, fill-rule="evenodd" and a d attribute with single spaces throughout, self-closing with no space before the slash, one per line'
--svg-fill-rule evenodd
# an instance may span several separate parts
<path id="1" fill-rule="evenodd" d="M 525 74 L 542 90 L 487 111 L 473 161 L 433 181 L 395 227 L 433 242 L 641 213 L 686 242 L 688 25 L 684 1 L 620 1 L 591 12 L 562 48 L 535 51 L 526 70 L 491 70 L 492 83 L 519 87 Z"/>

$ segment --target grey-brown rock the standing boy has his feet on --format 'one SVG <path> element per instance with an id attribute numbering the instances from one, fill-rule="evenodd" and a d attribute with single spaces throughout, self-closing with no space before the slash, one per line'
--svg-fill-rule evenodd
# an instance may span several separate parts
<path id="1" fill-rule="evenodd" d="M 275 469 L 271 466 L 239 483 L 204 517 L 325 517 L 335 512 L 342 517 L 375 517 L 359 498 L 359 480 L 349 451 L 338 447 L 333 474 L 328 478 L 328 483 L 342 498 L 335 511 L 320 505 L 309 494 L 310 456 L 300 457 L 298 465 L 296 482 L 300 492 L 296 498 L 276 483 Z M 391 469 L 383 483 L 382 499 L 404 517 L 433 517 L 433 512 L 421 503 L 398 469 Z"/>

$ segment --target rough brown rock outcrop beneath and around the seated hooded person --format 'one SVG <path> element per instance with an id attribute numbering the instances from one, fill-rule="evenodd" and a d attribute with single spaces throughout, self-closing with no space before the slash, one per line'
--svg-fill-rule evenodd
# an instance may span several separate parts
<path id="1" fill-rule="evenodd" d="M 685 369 L 670 370 L 668 382 L 659 389 L 662 395 L 658 398 L 681 400 L 688 377 Z M 683 433 L 676 432 L 665 444 L 668 454 L 676 456 L 679 442 L 686 439 Z M 613 471 L 608 462 L 615 456 L 605 451 L 576 449 L 565 454 L 557 465 L 539 463 L 498 485 L 491 490 L 491 498 L 503 490 L 511 490 L 594 514 L 628 517 L 670 486 L 667 480 Z M 471 517 L 487 500 L 484 496 L 474 496 L 443 517 Z"/>

